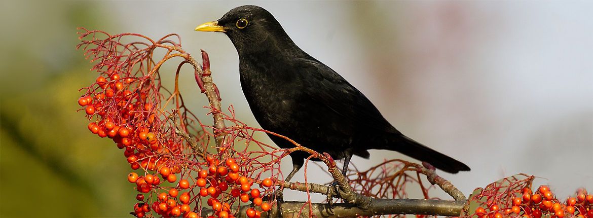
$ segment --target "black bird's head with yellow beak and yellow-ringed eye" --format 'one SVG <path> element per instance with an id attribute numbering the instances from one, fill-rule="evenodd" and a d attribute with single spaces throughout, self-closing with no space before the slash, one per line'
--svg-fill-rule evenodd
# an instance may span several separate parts
<path id="1" fill-rule="evenodd" d="M 292 46 L 280 23 L 270 12 L 255 5 L 243 5 L 231 9 L 220 19 L 199 25 L 196 31 L 222 32 L 227 34 L 239 53 L 263 47 Z"/>

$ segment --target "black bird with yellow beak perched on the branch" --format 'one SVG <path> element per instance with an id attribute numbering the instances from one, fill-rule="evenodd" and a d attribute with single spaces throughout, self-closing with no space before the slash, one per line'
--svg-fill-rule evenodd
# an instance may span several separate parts
<path id="1" fill-rule="evenodd" d="M 301 50 L 270 12 L 254 5 L 231 9 L 196 31 L 227 34 L 239 54 L 241 88 L 263 129 L 334 159 L 369 158 L 368 149 L 395 150 L 445 172 L 470 168 L 404 136 L 342 76 Z M 294 145 L 269 135 L 280 148 Z M 309 155 L 291 153 L 289 181 Z"/>

